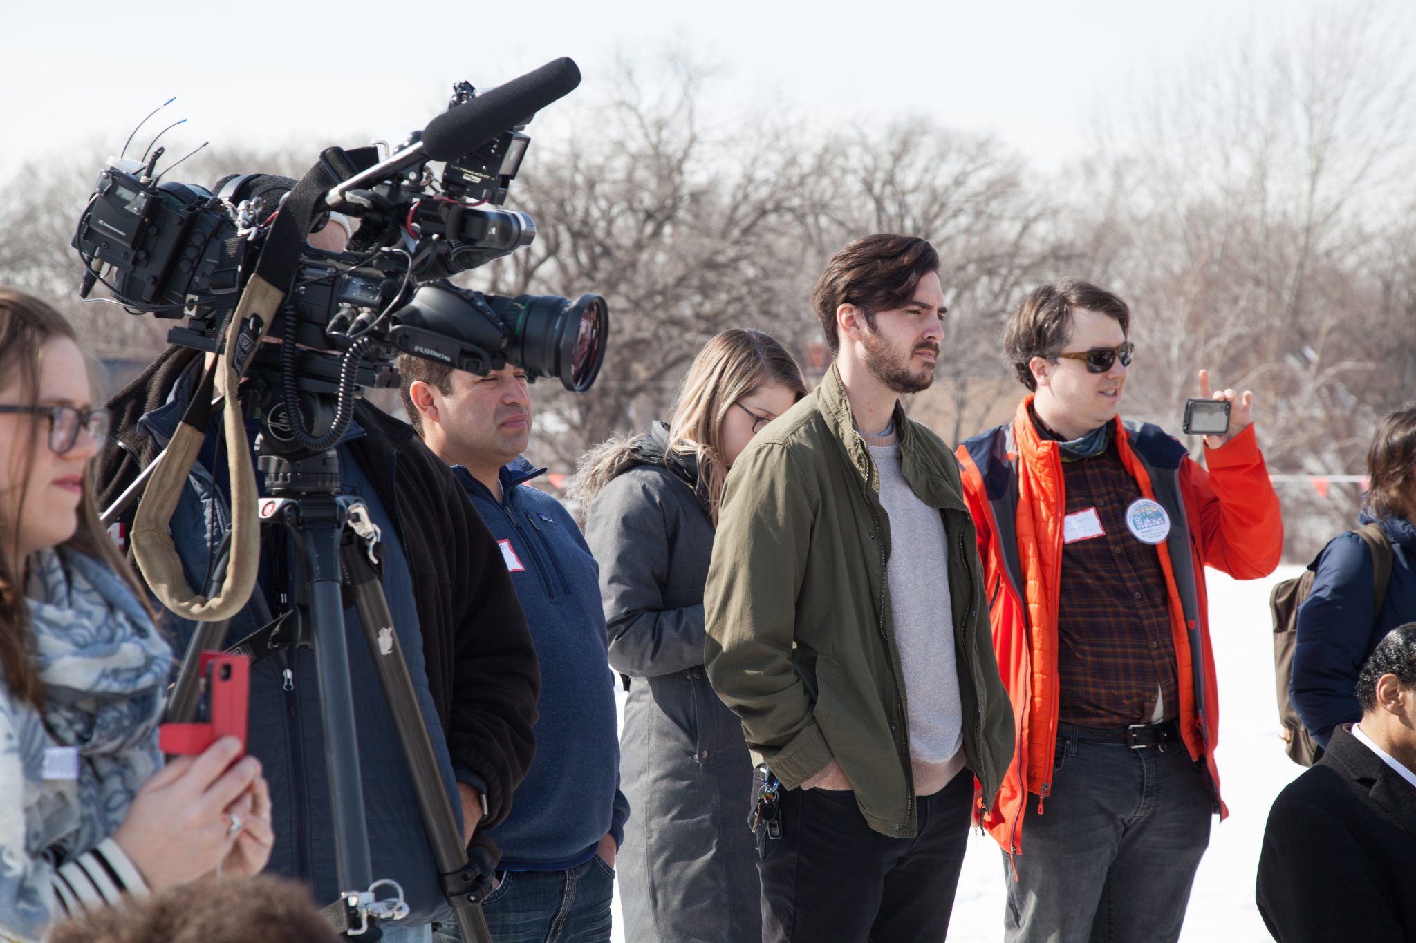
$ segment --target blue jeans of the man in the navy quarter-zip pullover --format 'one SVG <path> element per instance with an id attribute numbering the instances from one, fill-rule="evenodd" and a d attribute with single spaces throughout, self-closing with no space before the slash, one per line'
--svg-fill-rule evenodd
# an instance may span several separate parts
<path id="1" fill-rule="evenodd" d="M 481 903 L 496 943 L 609 943 L 615 868 L 595 855 L 568 871 L 503 871 Z M 463 943 L 438 925 L 433 943 Z"/>

